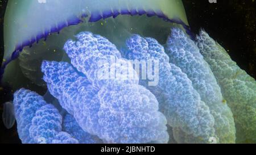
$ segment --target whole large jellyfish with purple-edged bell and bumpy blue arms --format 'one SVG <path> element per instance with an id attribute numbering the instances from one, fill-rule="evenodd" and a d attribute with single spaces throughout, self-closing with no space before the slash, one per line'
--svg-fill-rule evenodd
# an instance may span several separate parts
<path id="1" fill-rule="evenodd" d="M 4 29 L 1 82 L 18 91 L 3 118 L 11 127 L 15 113 L 23 143 L 41 143 L 51 120 L 48 143 L 256 142 L 255 79 L 193 35 L 181 0 L 9 0 Z M 159 85 L 97 79 L 125 72 L 108 56 L 159 60 Z"/>

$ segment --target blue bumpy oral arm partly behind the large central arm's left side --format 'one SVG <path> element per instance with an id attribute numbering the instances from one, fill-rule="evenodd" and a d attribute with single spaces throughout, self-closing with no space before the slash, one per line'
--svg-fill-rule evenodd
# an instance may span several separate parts
<path id="1" fill-rule="evenodd" d="M 92 135 L 101 133 L 97 123 L 100 109 L 98 90 L 88 79 L 80 76 L 67 62 L 43 61 L 42 72 L 49 92 L 74 116 L 82 129 L 86 128 L 85 131 Z"/>

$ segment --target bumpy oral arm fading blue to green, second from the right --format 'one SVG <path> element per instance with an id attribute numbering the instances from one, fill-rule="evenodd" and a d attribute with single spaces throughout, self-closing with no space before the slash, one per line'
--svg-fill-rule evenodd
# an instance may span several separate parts
<path id="1" fill-rule="evenodd" d="M 166 52 L 170 56 L 170 62 L 187 74 L 201 99 L 209 106 L 220 143 L 235 143 L 236 129 L 232 112 L 197 45 L 182 30 L 173 28 L 167 40 Z"/>

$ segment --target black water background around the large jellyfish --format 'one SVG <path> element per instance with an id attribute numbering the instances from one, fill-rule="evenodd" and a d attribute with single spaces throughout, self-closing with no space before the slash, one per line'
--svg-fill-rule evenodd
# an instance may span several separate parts
<path id="1" fill-rule="evenodd" d="M 22 0 L 20 0 L 22 1 Z M 75 1 L 75 0 L 74 0 Z M 0 0 L 0 64 L 3 59 L 3 16 L 7 0 Z M 255 0 L 183 0 L 194 33 L 204 28 L 229 53 L 238 66 L 256 78 Z M 0 143 L 20 143 L 16 125 L 7 130 L 2 123 L 2 103 L 11 99 L 0 86 Z"/>

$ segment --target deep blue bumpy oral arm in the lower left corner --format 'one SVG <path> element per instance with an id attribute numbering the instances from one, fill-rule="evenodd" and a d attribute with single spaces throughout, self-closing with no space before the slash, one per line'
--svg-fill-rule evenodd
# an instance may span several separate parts
<path id="1" fill-rule="evenodd" d="M 14 108 L 22 143 L 78 143 L 68 133 L 61 132 L 59 111 L 35 92 L 16 91 Z"/>

